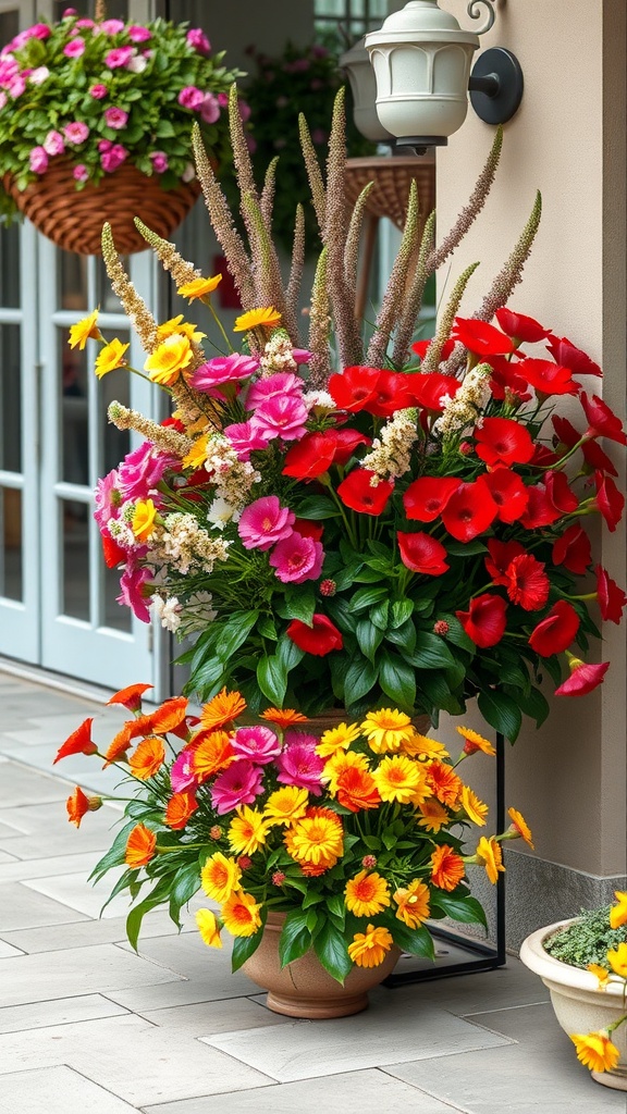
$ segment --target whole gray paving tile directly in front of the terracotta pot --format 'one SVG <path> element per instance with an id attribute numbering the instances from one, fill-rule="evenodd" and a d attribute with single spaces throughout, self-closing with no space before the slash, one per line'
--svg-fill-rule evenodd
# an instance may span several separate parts
<path id="1" fill-rule="evenodd" d="M 507 1037 L 434 1006 L 399 1004 L 393 991 L 386 1001 L 378 1000 L 355 1017 L 296 1022 L 276 1029 L 249 1029 L 201 1039 L 279 1082 L 438 1058 L 509 1043 Z"/>

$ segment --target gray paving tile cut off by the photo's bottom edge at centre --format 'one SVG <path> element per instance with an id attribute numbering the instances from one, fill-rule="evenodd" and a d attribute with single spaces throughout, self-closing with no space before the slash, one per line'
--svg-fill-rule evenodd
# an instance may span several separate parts
<path id="1" fill-rule="evenodd" d="M 146 1114 L 208 1114 L 205 1095 L 183 1102 L 146 1106 Z M 321 1110 L 359 1111 L 359 1114 L 392 1114 L 411 1111 L 412 1114 L 453 1114 L 447 1103 L 432 1095 L 393 1079 L 384 1072 L 364 1071 L 331 1075 L 329 1078 L 306 1079 L 302 1083 L 283 1083 L 280 1086 L 254 1087 L 240 1091 L 234 1103 L 229 1103 L 233 1114 L 320 1114 Z"/>

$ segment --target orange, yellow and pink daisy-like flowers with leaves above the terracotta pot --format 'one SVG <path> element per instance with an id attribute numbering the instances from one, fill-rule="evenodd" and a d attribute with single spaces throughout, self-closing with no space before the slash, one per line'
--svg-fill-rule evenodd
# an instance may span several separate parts
<path id="1" fill-rule="evenodd" d="M 485 924 L 466 885 L 467 864 L 484 867 L 495 882 L 504 869 L 501 841 L 531 843 L 511 809 L 504 833 L 480 836 L 465 851 L 466 829 L 485 827 L 488 807 L 457 768 L 478 751 L 494 754 L 474 731 L 457 729 L 463 742 L 454 761 L 394 709 L 319 737 L 287 709 L 238 723 L 247 710 L 238 692 L 214 696 L 200 722 L 184 697 L 143 713 L 149 687 L 110 698 L 133 715 L 106 752 L 98 752 L 88 719 L 55 760 L 95 754 L 125 774 L 123 827 L 93 878 L 125 868 L 112 897 L 127 891 L 134 901 L 127 932 L 135 947 L 146 912 L 167 906 L 179 924 L 181 907 L 202 890 L 219 913 L 196 911 L 201 936 L 219 948 L 222 928 L 234 937 L 233 969 L 259 946 L 268 913 L 282 912 L 281 964 L 312 947 L 343 983 L 354 964 L 376 967 L 393 945 L 433 958 L 427 919 Z M 77 788 L 69 820 L 78 827 L 100 804 Z"/>

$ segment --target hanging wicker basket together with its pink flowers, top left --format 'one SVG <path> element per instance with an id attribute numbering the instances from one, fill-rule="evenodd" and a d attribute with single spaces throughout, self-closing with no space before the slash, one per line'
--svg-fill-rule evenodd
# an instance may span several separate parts
<path id="1" fill-rule="evenodd" d="M 224 106 L 239 71 L 199 28 L 80 19 L 67 8 L 0 51 L 0 179 L 4 221 L 22 213 L 60 247 L 100 252 L 105 219 L 124 253 L 145 242 L 139 211 L 170 235 L 200 187 L 194 121 L 216 164 L 228 159 Z"/>

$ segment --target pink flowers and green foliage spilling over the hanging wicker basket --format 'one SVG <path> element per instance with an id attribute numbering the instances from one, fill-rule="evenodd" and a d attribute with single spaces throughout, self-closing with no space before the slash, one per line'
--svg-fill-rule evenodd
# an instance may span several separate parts
<path id="1" fill-rule="evenodd" d="M 0 51 L 0 176 L 25 189 L 66 159 L 81 189 L 128 160 L 172 189 L 194 177 L 194 121 L 216 160 L 229 157 L 224 108 L 238 76 L 199 28 L 79 19 L 68 8 Z M 11 218 L 15 203 L 1 199 Z"/>

